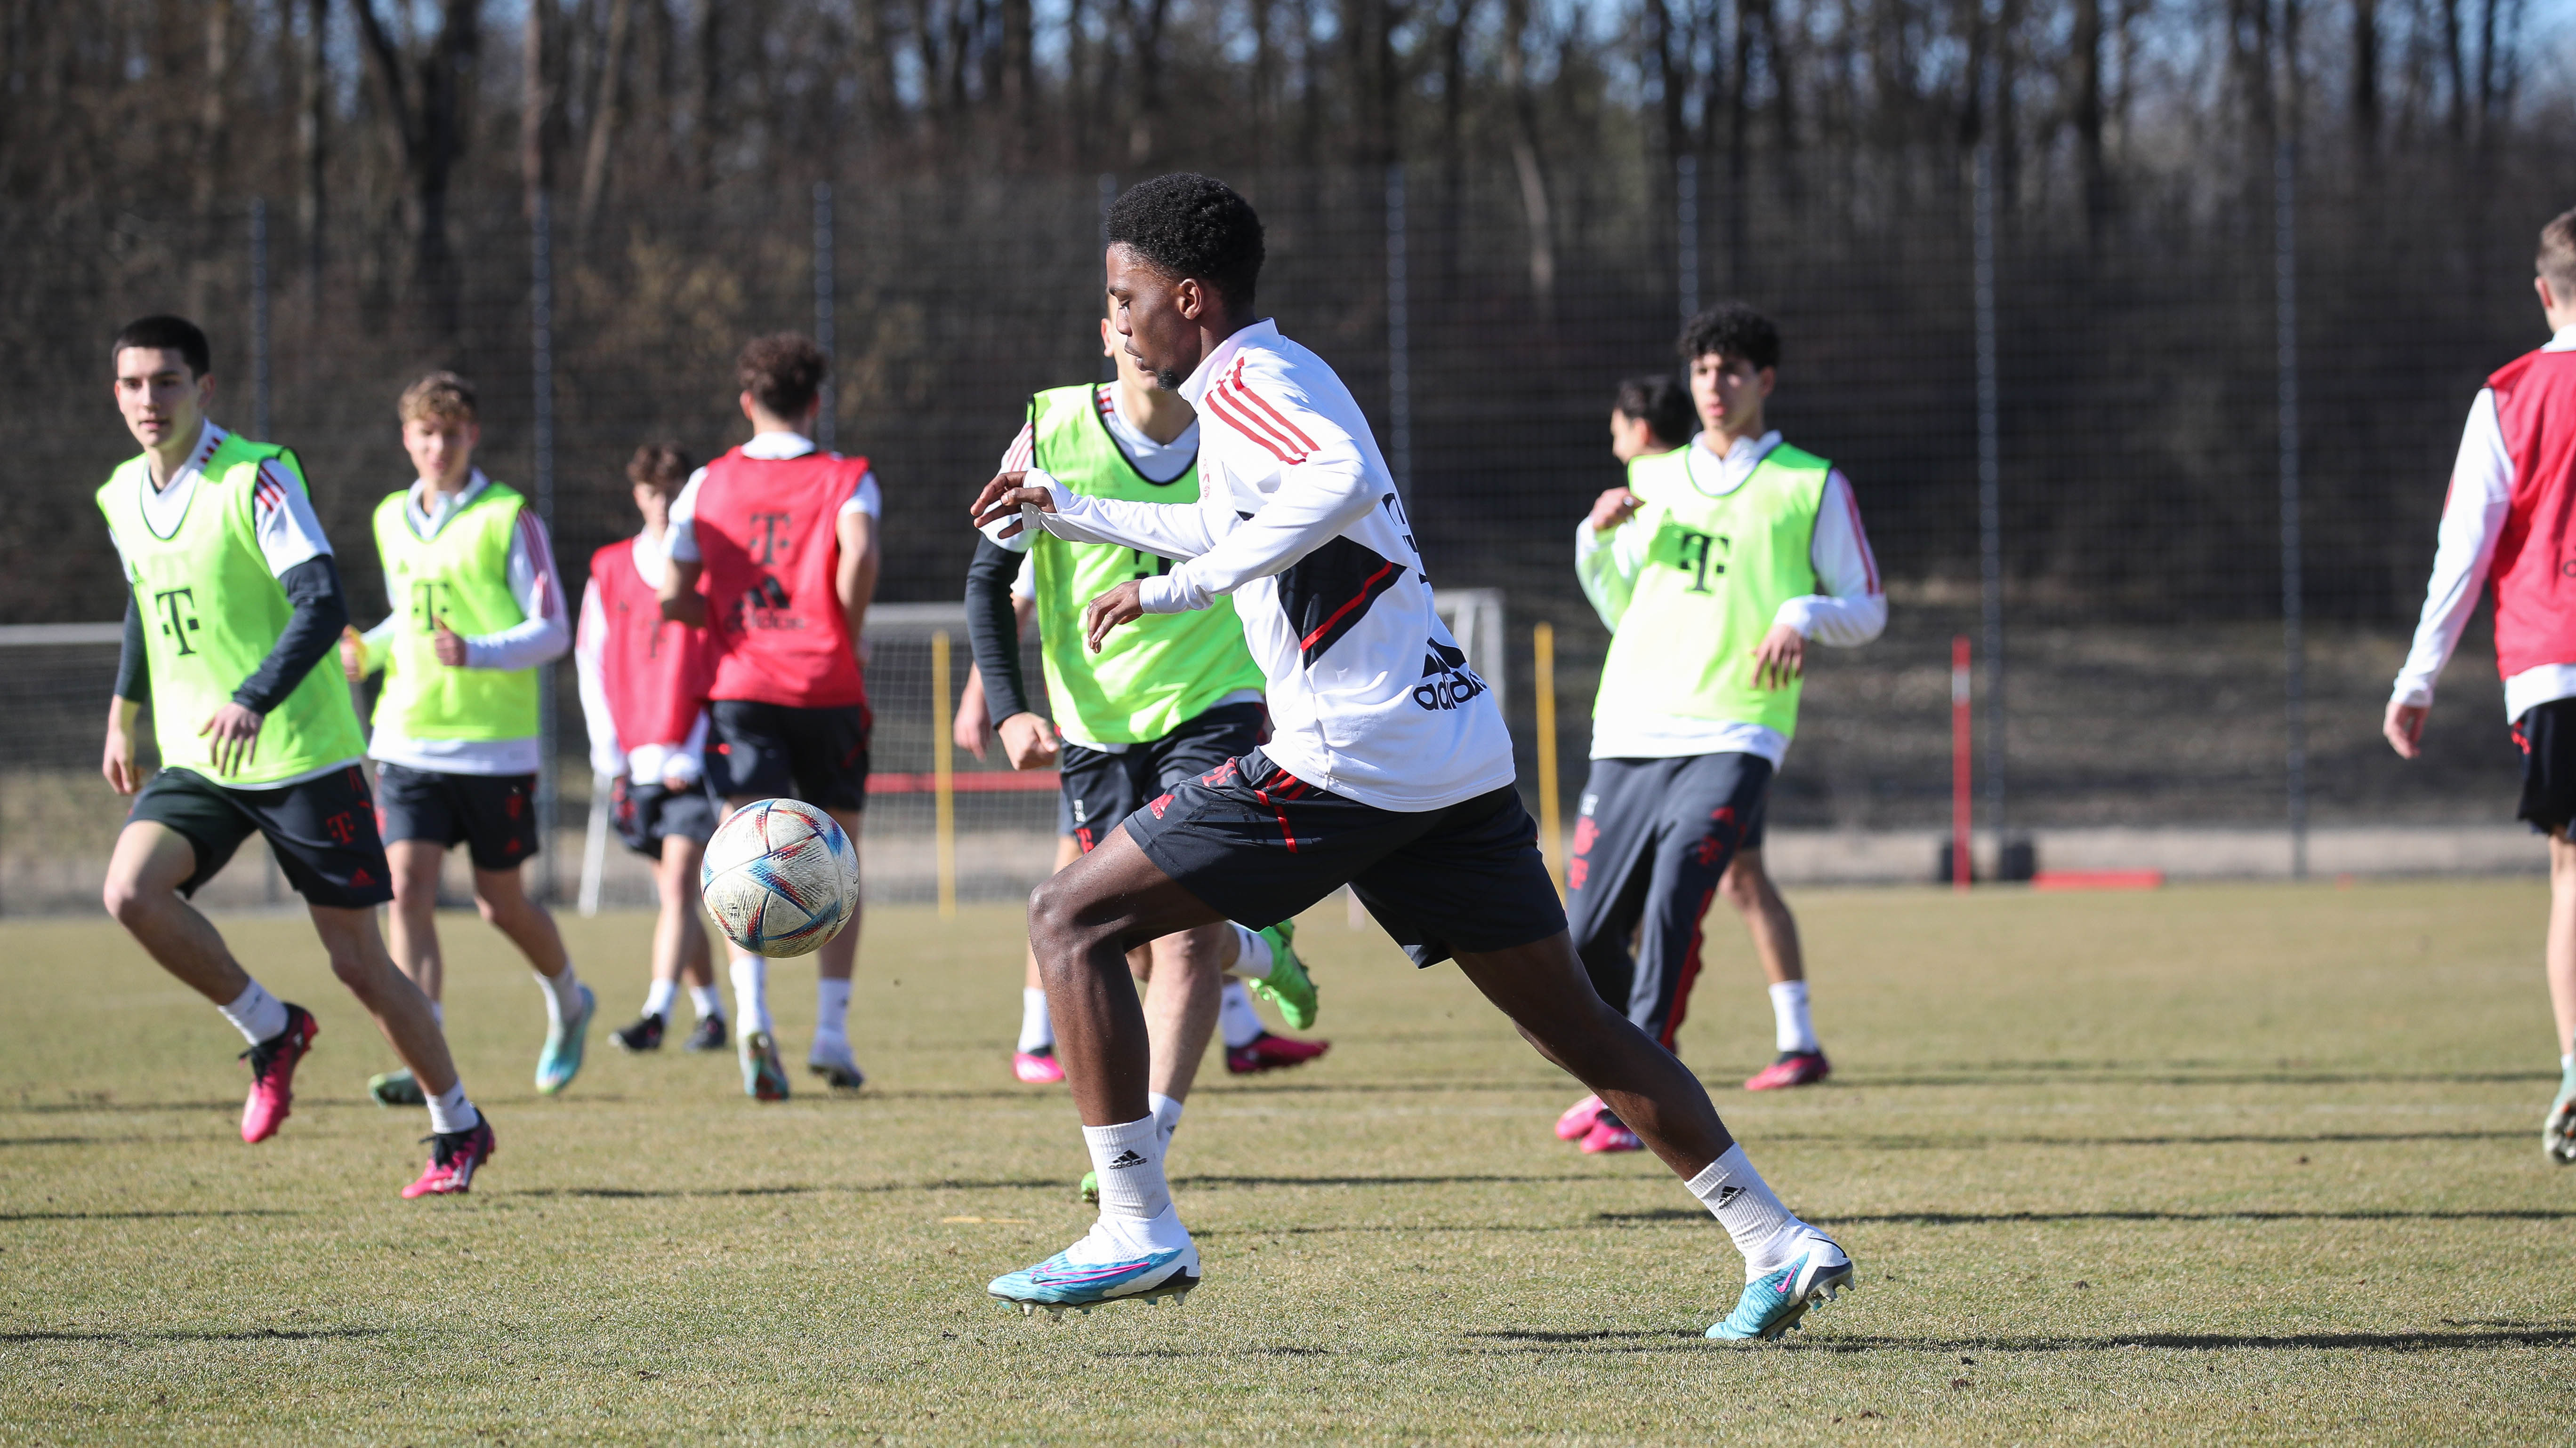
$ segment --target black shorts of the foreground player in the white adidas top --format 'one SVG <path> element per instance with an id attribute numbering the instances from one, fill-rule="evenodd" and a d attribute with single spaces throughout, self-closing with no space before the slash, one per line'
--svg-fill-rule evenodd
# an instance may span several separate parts
<path id="1" fill-rule="evenodd" d="M 1182 889 L 1255 930 L 1347 884 L 1417 966 L 1566 928 L 1512 786 L 1396 812 L 1327 794 L 1252 750 L 1128 814 L 1126 832 Z"/>

